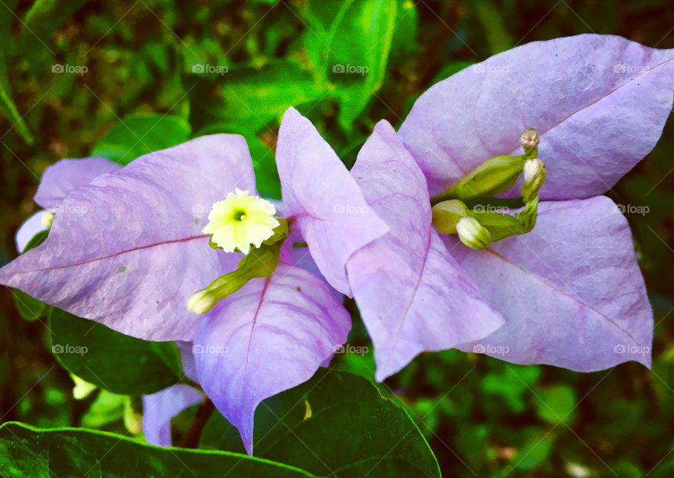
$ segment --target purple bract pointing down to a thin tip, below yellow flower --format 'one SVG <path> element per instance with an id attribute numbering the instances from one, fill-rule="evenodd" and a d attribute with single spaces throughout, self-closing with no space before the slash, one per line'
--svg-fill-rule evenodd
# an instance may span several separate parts
<path id="1" fill-rule="evenodd" d="M 194 340 L 199 382 L 253 452 L 258 404 L 307 381 L 351 327 L 324 280 L 279 264 L 221 301 Z"/>

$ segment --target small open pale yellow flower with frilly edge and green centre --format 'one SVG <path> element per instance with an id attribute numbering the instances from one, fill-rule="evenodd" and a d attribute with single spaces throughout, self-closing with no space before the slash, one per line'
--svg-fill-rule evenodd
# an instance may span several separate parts
<path id="1" fill-rule="evenodd" d="M 276 208 L 268 200 L 235 189 L 225 200 L 213 204 L 204 234 L 210 234 L 213 243 L 225 252 L 248 254 L 251 245 L 260 247 L 274 235 L 274 228 L 279 226 L 274 214 Z"/>

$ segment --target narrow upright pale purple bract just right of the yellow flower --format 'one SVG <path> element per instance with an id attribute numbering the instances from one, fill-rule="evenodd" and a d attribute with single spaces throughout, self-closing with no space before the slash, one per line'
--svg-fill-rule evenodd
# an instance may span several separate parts
<path id="1" fill-rule="evenodd" d="M 368 207 L 330 145 L 296 109 L 283 117 L 276 162 L 286 211 L 326 280 L 350 296 L 346 262 L 387 226 Z"/>

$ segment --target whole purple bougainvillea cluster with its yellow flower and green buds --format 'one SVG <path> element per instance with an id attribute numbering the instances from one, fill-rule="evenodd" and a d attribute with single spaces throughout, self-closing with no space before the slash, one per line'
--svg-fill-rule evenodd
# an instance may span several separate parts
<path id="1" fill-rule="evenodd" d="M 529 43 L 481 64 L 507 71 L 465 69 L 430 88 L 399 130 L 378 123 L 350 171 L 291 108 L 276 151 L 281 203 L 258 197 L 238 135 L 124 168 L 63 160 L 35 198 L 48 212 L 18 247 L 40 229 L 48 238 L 0 283 L 179 341 L 249 453 L 258 404 L 345 343 L 340 294 L 357 303 L 379 381 L 447 348 L 576 371 L 649 366 L 614 349 L 649 347 L 653 318 L 627 221 L 601 195 L 659 139 L 673 60 L 614 36 Z M 644 68 L 615 74 L 619 61 Z M 569 71 L 583 71 L 583 88 Z M 499 200 L 520 210 L 482 205 Z M 187 385 L 146 397 L 159 404 L 148 436 L 169 444 L 171 415 L 200 399 Z"/>

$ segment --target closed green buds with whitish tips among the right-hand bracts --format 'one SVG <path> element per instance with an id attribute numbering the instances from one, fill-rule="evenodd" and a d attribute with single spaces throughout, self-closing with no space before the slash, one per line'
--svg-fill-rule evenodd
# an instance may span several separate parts
<path id="1" fill-rule="evenodd" d="M 546 181 L 546 165 L 538 156 L 538 133 L 522 132 L 521 156 L 496 156 L 484 161 L 455 186 L 432 198 L 433 224 L 444 234 L 456 234 L 468 247 L 482 250 L 497 240 L 525 234 L 536 225 L 538 191 Z M 484 207 L 469 209 L 465 202 L 510 189 L 522 174 L 524 208 L 514 216 Z"/>

